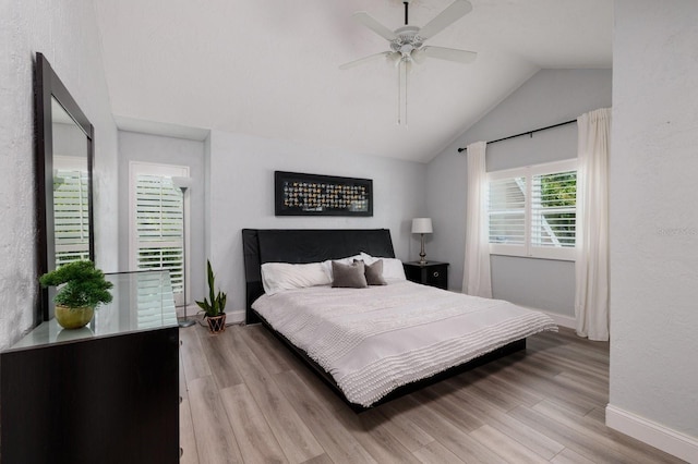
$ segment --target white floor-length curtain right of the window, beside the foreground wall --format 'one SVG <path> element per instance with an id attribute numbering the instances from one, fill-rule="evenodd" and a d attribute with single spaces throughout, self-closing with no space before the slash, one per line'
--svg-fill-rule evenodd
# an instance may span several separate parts
<path id="1" fill-rule="evenodd" d="M 609 340 L 609 151 L 611 109 L 577 119 L 577 334 Z"/>

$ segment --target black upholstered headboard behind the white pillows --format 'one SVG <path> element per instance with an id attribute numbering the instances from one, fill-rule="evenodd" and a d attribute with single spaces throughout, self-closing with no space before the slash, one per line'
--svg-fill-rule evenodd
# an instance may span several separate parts
<path id="1" fill-rule="evenodd" d="M 243 229 L 246 323 L 258 322 L 252 303 L 264 294 L 264 262 L 318 262 L 361 252 L 394 258 L 387 229 Z"/>

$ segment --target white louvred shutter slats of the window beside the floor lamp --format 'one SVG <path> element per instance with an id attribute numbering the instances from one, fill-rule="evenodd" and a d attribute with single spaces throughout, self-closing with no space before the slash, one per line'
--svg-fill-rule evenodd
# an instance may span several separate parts
<path id="1" fill-rule="evenodd" d="M 135 175 L 135 219 L 137 270 L 168 269 L 172 290 L 181 293 L 182 194 L 170 176 Z"/>

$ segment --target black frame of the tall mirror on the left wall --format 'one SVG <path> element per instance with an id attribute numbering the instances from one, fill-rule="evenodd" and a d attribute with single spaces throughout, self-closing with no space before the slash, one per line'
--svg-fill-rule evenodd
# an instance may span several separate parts
<path id="1" fill-rule="evenodd" d="M 89 259 L 95 260 L 95 228 L 93 216 L 93 162 L 95 129 L 80 109 L 43 53 L 36 53 L 36 223 L 38 274 L 56 269 L 56 237 L 53 221 L 53 127 L 51 97 L 63 107 L 87 137 Z M 41 289 L 37 320 L 53 317 L 55 289 Z"/>

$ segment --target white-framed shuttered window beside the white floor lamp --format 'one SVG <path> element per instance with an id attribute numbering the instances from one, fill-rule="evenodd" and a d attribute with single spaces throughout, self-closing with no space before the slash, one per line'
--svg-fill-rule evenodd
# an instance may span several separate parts
<path id="1" fill-rule="evenodd" d="M 182 193 L 172 178 L 189 168 L 131 162 L 130 260 L 132 270 L 168 269 L 176 304 L 183 305 L 184 243 Z M 186 272 L 189 274 L 189 272 Z"/>

